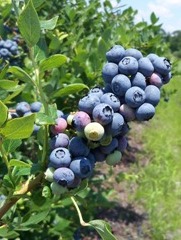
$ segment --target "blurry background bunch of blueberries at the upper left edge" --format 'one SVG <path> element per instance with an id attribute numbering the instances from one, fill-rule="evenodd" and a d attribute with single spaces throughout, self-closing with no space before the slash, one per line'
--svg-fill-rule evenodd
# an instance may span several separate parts
<path id="1" fill-rule="evenodd" d="M 19 55 L 19 47 L 17 41 L 6 39 L 0 40 L 0 59 L 7 60 L 11 64 L 16 65 L 16 58 Z"/>

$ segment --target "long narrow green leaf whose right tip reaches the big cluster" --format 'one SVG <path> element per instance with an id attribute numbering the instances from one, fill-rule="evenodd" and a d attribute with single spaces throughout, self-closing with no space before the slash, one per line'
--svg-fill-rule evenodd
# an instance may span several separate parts
<path id="1" fill-rule="evenodd" d="M 68 96 L 69 94 L 75 94 L 78 93 L 80 91 L 82 91 L 83 89 L 87 89 L 89 90 L 88 86 L 86 86 L 83 83 L 73 83 L 73 84 L 69 84 L 67 86 L 65 86 L 64 88 L 59 89 L 58 91 L 56 91 L 54 93 L 54 97 L 64 97 L 64 96 Z"/>

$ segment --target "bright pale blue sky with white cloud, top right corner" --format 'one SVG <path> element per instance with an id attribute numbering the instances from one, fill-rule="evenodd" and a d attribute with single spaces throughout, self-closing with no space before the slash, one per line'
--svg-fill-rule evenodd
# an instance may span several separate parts
<path id="1" fill-rule="evenodd" d="M 150 14 L 154 12 L 159 18 L 158 23 L 169 33 L 181 30 L 181 0 L 110 0 L 113 7 L 126 5 L 138 10 L 135 22 L 150 22 Z M 123 8 L 123 9 L 124 9 Z"/>

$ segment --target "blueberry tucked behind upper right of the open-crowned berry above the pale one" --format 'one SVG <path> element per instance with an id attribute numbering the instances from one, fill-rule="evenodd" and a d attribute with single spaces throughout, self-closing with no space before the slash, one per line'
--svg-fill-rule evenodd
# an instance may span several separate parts
<path id="1" fill-rule="evenodd" d="M 109 104 L 114 111 L 118 111 L 118 109 L 120 108 L 119 98 L 117 98 L 114 93 L 111 93 L 111 92 L 105 93 L 102 95 L 100 100 L 101 100 L 101 103 Z"/>

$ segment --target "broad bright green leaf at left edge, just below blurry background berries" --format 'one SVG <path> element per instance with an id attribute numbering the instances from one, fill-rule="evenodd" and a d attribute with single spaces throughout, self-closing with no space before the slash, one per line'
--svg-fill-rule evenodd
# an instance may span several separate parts
<path id="1" fill-rule="evenodd" d="M 6 125 L 0 129 L 0 133 L 5 139 L 28 138 L 33 132 L 34 121 L 35 114 L 9 120 L 6 122 Z"/>

